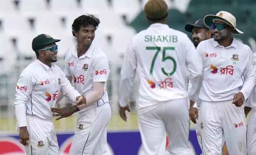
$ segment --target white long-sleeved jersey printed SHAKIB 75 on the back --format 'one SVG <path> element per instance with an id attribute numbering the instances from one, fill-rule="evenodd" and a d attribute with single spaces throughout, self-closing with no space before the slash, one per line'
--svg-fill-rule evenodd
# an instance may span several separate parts
<path id="1" fill-rule="evenodd" d="M 152 24 L 136 34 L 128 45 L 119 84 L 120 106 L 128 103 L 136 69 L 140 79 L 139 113 L 165 101 L 188 97 L 186 67 L 194 83 L 189 96 L 195 101 L 202 82 L 202 65 L 198 61 L 195 47 L 186 34 L 165 24 Z"/>

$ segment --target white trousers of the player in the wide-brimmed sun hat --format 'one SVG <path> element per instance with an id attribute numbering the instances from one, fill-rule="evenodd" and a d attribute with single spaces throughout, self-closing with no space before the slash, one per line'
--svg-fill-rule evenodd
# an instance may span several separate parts
<path id="1" fill-rule="evenodd" d="M 247 155 L 243 106 L 202 100 L 199 117 L 204 155 L 222 155 L 223 133 L 229 155 Z"/>

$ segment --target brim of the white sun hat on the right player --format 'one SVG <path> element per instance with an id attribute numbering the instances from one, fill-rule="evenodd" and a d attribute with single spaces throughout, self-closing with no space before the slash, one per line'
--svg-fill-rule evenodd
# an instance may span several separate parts
<path id="1" fill-rule="evenodd" d="M 207 27 L 211 27 L 211 24 L 213 23 L 213 19 L 224 21 L 225 23 L 232 26 L 234 28 L 234 31 L 232 34 L 243 34 L 244 33 L 242 31 L 240 31 L 238 28 L 236 28 L 235 25 L 232 25 L 229 21 L 227 21 L 226 19 L 219 17 L 217 15 L 206 15 L 206 17 L 204 17 L 204 25 L 206 25 Z"/>

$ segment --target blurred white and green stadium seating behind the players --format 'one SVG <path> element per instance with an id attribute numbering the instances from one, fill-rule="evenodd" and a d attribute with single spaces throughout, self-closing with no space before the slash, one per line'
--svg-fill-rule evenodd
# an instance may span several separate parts
<path id="1" fill-rule="evenodd" d="M 93 14 L 101 21 L 94 43 L 109 59 L 112 74 L 109 78 L 109 98 L 111 106 L 118 107 L 118 70 L 132 37 L 149 26 L 143 12 L 146 2 L 147 0 L 0 0 L 0 113 L 6 112 L 6 105 L 3 106 L 2 103 L 12 102 L 14 99 L 14 88 L 20 72 L 35 58 L 35 52 L 31 49 L 32 39 L 41 33 L 61 39 L 58 43 L 57 64 L 63 69 L 66 52 L 76 44 L 76 38 L 72 36 L 72 23 L 85 13 Z M 237 27 L 244 32 L 235 37 L 249 45 L 252 51 L 256 51 L 256 0 L 166 2 L 169 7 L 168 25 L 185 32 L 189 38 L 191 34 L 184 30 L 187 23 L 195 23 L 208 14 L 229 11 L 237 18 Z M 62 103 L 68 102 L 63 100 Z M 13 109 L 12 103 L 8 106 Z M 113 109 L 113 113 L 118 113 L 118 108 Z M 14 115 L 14 111 L 8 111 L 8 115 Z"/>

